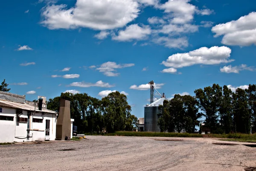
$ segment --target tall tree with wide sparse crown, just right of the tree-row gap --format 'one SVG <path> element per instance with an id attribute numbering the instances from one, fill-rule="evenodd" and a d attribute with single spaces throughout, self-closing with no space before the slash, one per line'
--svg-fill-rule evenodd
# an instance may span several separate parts
<path id="1" fill-rule="evenodd" d="M 199 107 L 204 111 L 206 126 L 211 129 L 211 133 L 216 133 L 218 129 L 218 109 L 221 104 L 222 87 L 213 84 L 212 87 L 204 87 L 204 90 L 195 90 L 195 97 L 199 101 Z"/>

